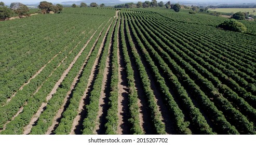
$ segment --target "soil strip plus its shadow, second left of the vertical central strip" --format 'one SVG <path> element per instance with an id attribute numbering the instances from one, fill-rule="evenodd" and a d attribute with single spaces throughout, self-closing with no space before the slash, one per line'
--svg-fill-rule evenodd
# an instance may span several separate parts
<path id="1" fill-rule="evenodd" d="M 109 22 L 107 22 L 107 23 L 109 23 Z M 109 31 L 109 28 L 108 28 L 107 31 Z M 104 30 L 104 28 L 103 28 L 103 30 Z M 100 32 L 100 34 L 99 34 L 98 38 L 96 39 L 95 44 L 93 44 L 92 48 L 95 48 L 95 46 L 96 46 L 96 44 L 97 44 L 97 42 L 99 40 L 99 37 L 102 35 L 103 30 Z M 103 41 L 104 41 L 105 37 L 106 37 L 106 34 L 105 34 L 105 36 L 103 38 Z M 86 117 L 86 105 L 87 105 L 87 103 L 89 101 L 89 97 L 88 96 L 90 95 L 90 92 L 92 90 L 93 80 L 96 79 L 96 75 L 98 73 L 97 72 L 98 71 L 97 68 L 98 68 L 98 64 L 99 64 L 99 59 L 100 59 L 101 54 L 102 54 L 102 47 L 103 47 L 103 45 L 99 48 L 99 51 L 98 51 L 95 63 L 92 66 L 92 71 L 91 71 L 91 74 L 90 74 L 89 79 L 88 79 L 87 88 L 85 89 L 84 95 L 80 99 L 80 103 L 79 103 L 79 107 L 78 107 L 78 114 L 77 114 L 77 116 L 75 117 L 75 119 L 73 121 L 71 132 L 70 132 L 71 135 L 82 134 L 83 121 L 84 121 L 84 118 Z"/>

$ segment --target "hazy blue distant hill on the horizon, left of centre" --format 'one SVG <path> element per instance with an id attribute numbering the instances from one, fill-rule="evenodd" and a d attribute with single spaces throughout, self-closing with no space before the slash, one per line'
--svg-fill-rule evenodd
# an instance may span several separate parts
<path id="1" fill-rule="evenodd" d="M 68 1 L 68 2 L 62 2 L 61 4 L 63 5 L 72 5 L 72 4 L 76 4 L 76 5 L 80 5 L 80 3 L 86 3 L 86 4 L 90 4 L 90 3 L 97 3 L 97 4 L 105 4 L 105 5 L 115 5 L 115 4 L 120 4 L 120 3 L 124 3 L 121 2 L 119 0 L 86 0 L 86 1 Z"/>

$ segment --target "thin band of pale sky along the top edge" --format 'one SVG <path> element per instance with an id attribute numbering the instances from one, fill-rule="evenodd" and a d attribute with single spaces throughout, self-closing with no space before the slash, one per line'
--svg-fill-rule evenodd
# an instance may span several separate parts
<path id="1" fill-rule="evenodd" d="M 13 3 L 13 2 L 20 2 L 20 3 L 23 3 L 23 4 L 36 4 L 36 3 L 39 3 L 41 1 L 47 1 L 47 2 L 51 2 L 51 3 L 61 3 L 61 2 L 66 2 L 66 1 L 82 1 L 82 0 L 0 0 L 0 2 L 4 2 L 5 4 L 10 4 L 10 3 Z M 119 1 L 130 1 L 130 2 L 138 2 L 138 1 L 141 1 L 141 2 L 144 2 L 144 1 L 150 1 L 150 0 L 119 0 Z M 160 1 L 163 1 L 163 2 L 167 2 L 167 1 L 172 1 L 172 0 L 157 0 L 157 2 L 160 2 Z M 174 2 L 182 2 L 182 1 L 190 1 L 190 2 L 216 2 L 216 0 L 173 0 Z M 221 0 L 217 0 L 218 2 L 223 2 Z M 254 2 L 254 0 L 226 0 L 225 2 L 241 2 L 241 3 L 252 3 Z M 255 3 L 255 2 L 254 2 Z"/>

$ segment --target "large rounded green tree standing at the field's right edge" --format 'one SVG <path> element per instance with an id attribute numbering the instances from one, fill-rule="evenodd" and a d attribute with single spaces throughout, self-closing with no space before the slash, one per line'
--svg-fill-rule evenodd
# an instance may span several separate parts
<path id="1" fill-rule="evenodd" d="M 224 30 L 241 32 L 241 33 L 245 33 L 247 31 L 247 28 L 244 24 L 234 19 L 226 20 L 223 23 L 219 24 L 217 27 L 223 28 Z"/>

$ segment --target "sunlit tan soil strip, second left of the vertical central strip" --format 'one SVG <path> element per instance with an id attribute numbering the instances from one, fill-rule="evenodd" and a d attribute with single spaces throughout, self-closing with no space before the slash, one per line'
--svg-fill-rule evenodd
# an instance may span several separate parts
<path id="1" fill-rule="evenodd" d="M 112 19 L 112 18 L 110 18 L 110 20 L 111 20 L 111 19 Z M 109 21 L 110 21 L 110 20 L 109 20 Z M 113 21 L 112 21 L 112 22 L 113 22 Z M 109 23 L 109 22 L 107 22 L 107 23 Z M 106 25 L 105 25 L 105 26 L 106 26 Z M 105 26 L 104 26 L 104 27 L 105 27 Z M 111 26 L 111 24 L 110 24 L 110 26 Z M 107 28 L 107 32 L 109 31 L 110 26 Z M 103 28 L 103 30 L 104 30 L 104 28 Z M 101 31 L 99 37 L 101 36 L 103 30 Z M 107 34 L 107 33 L 106 33 L 106 34 Z M 106 37 L 106 34 L 105 34 L 105 36 L 104 36 L 102 42 L 104 42 L 105 37 Z M 96 39 L 95 44 L 93 44 L 93 47 L 92 47 L 92 48 L 95 48 L 96 43 L 97 43 L 99 37 Z M 100 54 L 101 54 L 102 47 L 103 47 L 103 44 L 102 44 L 102 46 L 99 48 L 99 51 L 98 51 L 98 54 L 97 54 L 95 63 L 94 63 L 93 66 L 92 66 L 92 71 L 91 71 L 91 74 L 90 74 L 89 79 L 88 79 L 87 88 L 86 88 L 86 90 L 85 90 L 85 92 L 84 92 L 84 95 L 83 95 L 82 98 L 80 99 L 80 104 L 79 104 L 79 107 L 78 107 L 78 114 L 77 114 L 77 116 L 75 117 L 74 122 L 73 122 L 73 124 L 72 124 L 71 132 L 70 132 L 71 135 L 74 135 L 75 132 L 76 132 L 76 130 L 77 130 L 77 128 L 79 128 L 79 127 L 78 127 L 78 126 L 79 126 L 79 121 L 80 121 L 81 118 L 82 118 L 82 112 L 84 112 L 84 109 L 85 109 L 84 107 L 85 107 L 85 105 L 86 105 L 86 102 L 85 102 L 84 100 L 86 100 L 86 98 L 88 98 L 88 93 L 89 93 L 89 90 L 90 90 L 90 86 L 91 86 L 91 84 L 92 84 L 92 80 L 93 80 L 93 78 L 94 78 L 93 76 L 95 76 L 96 66 L 98 65 L 98 62 L 99 62 L 99 56 L 100 56 Z"/>

